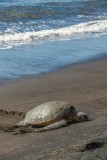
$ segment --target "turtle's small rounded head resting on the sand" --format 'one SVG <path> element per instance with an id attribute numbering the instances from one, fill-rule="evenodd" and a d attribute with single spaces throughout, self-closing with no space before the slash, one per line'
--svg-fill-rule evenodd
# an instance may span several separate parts
<path id="1" fill-rule="evenodd" d="M 84 122 L 84 121 L 88 121 L 88 120 L 89 120 L 89 117 L 84 112 L 78 112 L 77 115 L 75 116 L 76 122 Z"/>

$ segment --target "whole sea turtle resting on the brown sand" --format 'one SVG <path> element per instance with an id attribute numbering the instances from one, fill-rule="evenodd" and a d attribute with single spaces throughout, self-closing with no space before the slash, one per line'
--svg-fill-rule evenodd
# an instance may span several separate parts
<path id="1" fill-rule="evenodd" d="M 38 126 L 36 132 L 42 132 L 67 126 L 71 122 L 83 122 L 88 120 L 84 112 L 76 112 L 75 108 L 62 101 L 52 101 L 41 104 L 30 110 L 23 121 L 16 124 L 21 126 Z"/>

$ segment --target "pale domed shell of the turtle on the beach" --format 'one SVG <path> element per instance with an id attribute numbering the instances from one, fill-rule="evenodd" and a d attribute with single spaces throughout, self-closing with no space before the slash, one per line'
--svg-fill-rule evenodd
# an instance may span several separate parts
<path id="1" fill-rule="evenodd" d="M 46 126 L 73 113 L 75 113 L 75 108 L 71 104 L 62 101 L 52 101 L 30 110 L 26 114 L 24 121 L 26 124 Z"/>

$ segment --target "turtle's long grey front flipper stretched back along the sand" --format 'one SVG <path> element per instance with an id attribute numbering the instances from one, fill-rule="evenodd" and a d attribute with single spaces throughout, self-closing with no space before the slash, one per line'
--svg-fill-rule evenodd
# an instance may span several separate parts
<path id="1" fill-rule="evenodd" d="M 54 122 L 54 123 L 52 123 L 48 126 L 45 126 L 43 128 L 36 129 L 35 132 L 44 132 L 44 131 L 54 130 L 54 129 L 58 129 L 61 127 L 65 127 L 67 125 L 68 125 L 68 122 L 63 119 L 61 121 Z"/>

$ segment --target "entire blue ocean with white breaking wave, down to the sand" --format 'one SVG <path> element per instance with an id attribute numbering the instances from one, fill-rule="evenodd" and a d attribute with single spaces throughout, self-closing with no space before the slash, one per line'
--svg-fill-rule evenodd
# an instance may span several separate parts
<path id="1" fill-rule="evenodd" d="M 107 54 L 107 0 L 0 0 L 0 79 Z"/>

